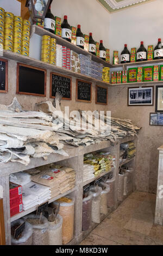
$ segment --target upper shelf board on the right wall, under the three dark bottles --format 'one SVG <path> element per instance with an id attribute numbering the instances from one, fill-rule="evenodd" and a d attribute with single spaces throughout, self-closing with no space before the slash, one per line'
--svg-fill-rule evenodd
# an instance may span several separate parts
<path id="1" fill-rule="evenodd" d="M 163 64 L 163 59 L 153 59 L 152 61 L 138 61 L 138 62 L 130 62 L 130 63 L 123 63 L 123 64 L 113 64 L 111 66 L 111 68 L 125 68 L 126 67 L 131 67 L 131 66 L 143 66 L 143 65 L 154 65 L 154 64 L 158 64 L 158 63 L 162 63 Z"/>

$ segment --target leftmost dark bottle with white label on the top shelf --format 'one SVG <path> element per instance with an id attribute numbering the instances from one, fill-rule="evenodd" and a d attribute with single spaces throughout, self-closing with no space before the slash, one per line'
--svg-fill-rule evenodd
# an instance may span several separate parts
<path id="1" fill-rule="evenodd" d="M 43 28 L 55 34 L 55 18 L 54 15 L 51 13 L 51 5 L 49 5 L 49 8 L 45 15 L 45 19 L 43 21 Z"/>

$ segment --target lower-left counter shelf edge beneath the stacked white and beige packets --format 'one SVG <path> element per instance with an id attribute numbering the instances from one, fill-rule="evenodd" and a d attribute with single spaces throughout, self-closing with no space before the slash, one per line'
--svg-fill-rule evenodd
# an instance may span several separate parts
<path id="1" fill-rule="evenodd" d="M 65 195 L 68 195 L 68 194 L 74 192 L 76 189 L 77 189 L 77 188 L 74 187 L 74 188 L 72 188 L 71 190 L 68 190 L 67 192 L 65 192 L 65 193 L 63 193 L 63 194 L 57 195 L 57 197 L 55 197 L 55 198 L 49 199 L 49 200 L 48 200 L 48 203 L 50 204 L 50 203 L 52 203 L 53 201 L 56 201 L 57 199 L 59 199 L 59 198 L 61 198 L 61 197 L 65 197 Z M 26 215 L 28 215 L 29 213 L 36 211 L 38 206 L 39 206 L 39 205 L 36 205 L 36 206 L 34 206 L 34 207 L 28 209 L 27 211 L 22 211 L 22 212 L 18 213 L 17 215 L 12 216 L 12 217 L 10 218 L 10 221 L 11 221 L 11 222 L 12 222 L 12 221 L 16 221 L 16 219 L 22 218 L 23 216 L 26 216 Z"/>

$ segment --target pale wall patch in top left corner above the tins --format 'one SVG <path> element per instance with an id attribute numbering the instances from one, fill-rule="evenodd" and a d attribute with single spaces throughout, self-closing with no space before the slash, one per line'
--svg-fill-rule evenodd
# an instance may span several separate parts
<path id="1" fill-rule="evenodd" d="M 0 0 L 0 7 L 13 13 L 15 16 L 21 15 L 21 3 L 17 0 Z"/>

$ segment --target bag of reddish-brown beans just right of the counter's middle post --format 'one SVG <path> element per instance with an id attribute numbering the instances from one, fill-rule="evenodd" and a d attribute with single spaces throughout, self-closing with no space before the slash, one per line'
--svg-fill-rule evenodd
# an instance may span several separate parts
<path id="1" fill-rule="evenodd" d="M 91 211 L 92 211 L 92 194 L 87 193 L 83 198 L 83 211 L 82 211 L 82 230 L 87 230 L 91 224 Z"/>

